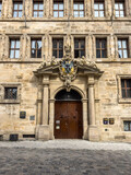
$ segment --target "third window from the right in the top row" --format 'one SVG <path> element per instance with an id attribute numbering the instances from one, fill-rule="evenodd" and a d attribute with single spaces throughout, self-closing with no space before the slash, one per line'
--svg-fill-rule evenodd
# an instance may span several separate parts
<path id="1" fill-rule="evenodd" d="M 74 18 L 84 16 L 84 1 L 74 1 L 73 4 Z"/>

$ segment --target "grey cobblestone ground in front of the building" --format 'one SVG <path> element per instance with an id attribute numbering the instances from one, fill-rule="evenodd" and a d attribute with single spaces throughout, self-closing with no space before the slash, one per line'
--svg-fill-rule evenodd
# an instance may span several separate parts
<path id="1" fill-rule="evenodd" d="M 131 175 L 131 151 L 122 148 L 119 151 L 100 147 L 98 150 L 39 149 L 40 142 L 37 148 L 10 144 L 0 144 L 0 175 Z"/>

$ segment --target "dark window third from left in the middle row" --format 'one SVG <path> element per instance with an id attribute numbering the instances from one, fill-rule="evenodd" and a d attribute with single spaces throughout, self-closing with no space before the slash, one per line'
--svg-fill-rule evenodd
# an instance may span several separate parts
<path id="1" fill-rule="evenodd" d="M 63 39 L 61 39 L 61 38 L 53 38 L 52 39 L 52 56 L 55 58 L 62 58 L 63 57 Z"/>

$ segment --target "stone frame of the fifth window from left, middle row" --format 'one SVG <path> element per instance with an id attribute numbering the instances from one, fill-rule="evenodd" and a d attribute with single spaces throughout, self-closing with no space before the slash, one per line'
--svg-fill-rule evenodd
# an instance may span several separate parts
<path id="1" fill-rule="evenodd" d="M 106 38 L 107 39 L 107 58 L 96 58 L 96 38 Z M 109 34 L 103 35 L 103 34 L 94 34 L 94 57 L 98 61 L 108 61 L 110 58 L 110 49 L 109 49 L 109 42 L 110 42 L 110 36 Z"/>

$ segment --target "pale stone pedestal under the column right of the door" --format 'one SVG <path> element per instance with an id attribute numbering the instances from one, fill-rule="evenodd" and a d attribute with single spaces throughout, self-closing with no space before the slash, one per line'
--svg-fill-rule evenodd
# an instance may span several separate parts
<path id="1" fill-rule="evenodd" d="M 99 131 L 96 126 L 88 127 L 88 140 L 90 141 L 99 141 Z"/>

